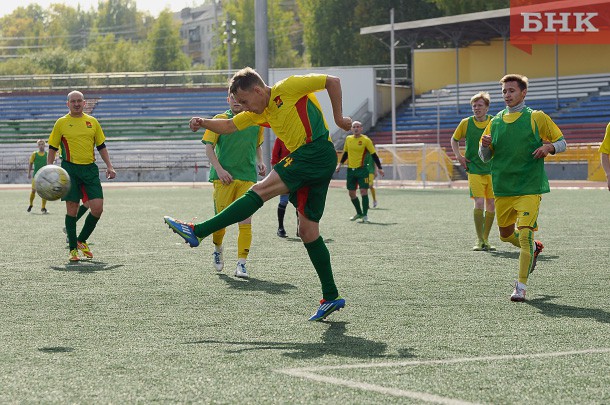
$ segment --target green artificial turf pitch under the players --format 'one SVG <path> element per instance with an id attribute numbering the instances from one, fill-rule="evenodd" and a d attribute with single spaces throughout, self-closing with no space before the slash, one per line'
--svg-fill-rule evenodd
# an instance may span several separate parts
<path id="1" fill-rule="evenodd" d="M 346 308 L 321 298 L 306 251 L 253 220 L 250 280 L 212 243 L 188 248 L 163 215 L 212 213 L 209 188 L 106 188 L 92 262 L 70 265 L 63 203 L 31 214 L 0 191 L 0 403 L 609 403 L 610 195 L 553 190 L 525 303 L 518 250 L 473 252 L 466 190 L 379 189 L 371 224 L 344 189 L 321 224 Z M 79 222 L 79 228 L 83 220 Z"/>

